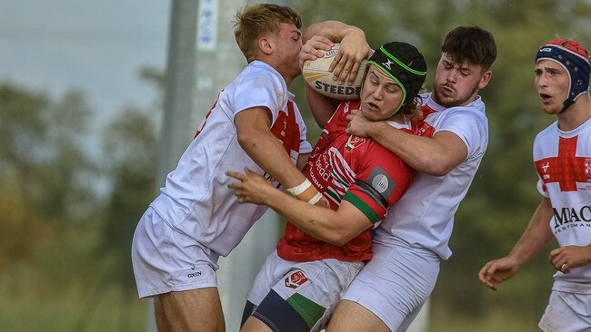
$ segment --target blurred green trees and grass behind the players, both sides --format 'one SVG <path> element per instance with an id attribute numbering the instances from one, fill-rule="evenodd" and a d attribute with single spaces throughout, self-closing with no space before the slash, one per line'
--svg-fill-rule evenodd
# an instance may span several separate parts
<path id="1" fill-rule="evenodd" d="M 476 24 L 495 34 L 493 79 L 481 93 L 488 151 L 456 214 L 454 255 L 441 265 L 430 330 L 536 331 L 554 272 L 547 249 L 496 292 L 476 274 L 486 261 L 509 252 L 540 200 L 531 147 L 554 118 L 540 111 L 533 84 L 536 49 L 554 37 L 575 37 L 591 47 L 591 1 L 292 5 L 305 24 L 335 19 L 361 27 L 374 47 L 391 40 L 415 44 L 429 65 L 427 89 L 447 31 Z M 143 68 L 140 79 L 163 91 L 160 72 Z M 292 90 L 308 113 L 302 82 L 296 80 Z M 135 223 L 155 195 L 161 102 L 121 110 L 104 129 L 103 153 L 94 160 L 83 143 L 95 112 L 84 92 L 50 97 L 0 83 L 0 330 L 144 330 L 145 302 L 136 298 L 129 248 Z M 311 117 L 306 122 L 316 142 L 316 123 Z M 107 189 L 96 190 L 97 182 Z"/>

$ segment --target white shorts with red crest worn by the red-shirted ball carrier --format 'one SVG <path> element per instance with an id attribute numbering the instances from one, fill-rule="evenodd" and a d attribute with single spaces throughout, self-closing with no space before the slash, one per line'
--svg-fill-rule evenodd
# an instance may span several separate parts
<path id="1" fill-rule="evenodd" d="M 321 317 L 313 318 L 317 318 L 317 321 L 310 329 L 320 331 L 326 328 L 328 318 L 335 311 L 339 299 L 363 266 L 361 261 L 346 262 L 338 259 L 287 261 L 277 256 L 275 250 L 256 275 L 246 299 L 258 306 L 270 289 L 275 290 L 290 304 L 304 298 L 306 308 L 310 308 L 310 305 L 320 306 L 322 308 L 317 308 L 321 310 L 324 308 Z"/>

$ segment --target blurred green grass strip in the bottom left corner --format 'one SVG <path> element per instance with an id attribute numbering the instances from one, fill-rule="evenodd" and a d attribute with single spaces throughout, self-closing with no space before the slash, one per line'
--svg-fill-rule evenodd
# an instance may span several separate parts
<path id="1" fill-rule="evenodd" d="M 0 331 L 145 331 L 147 302 L 137 299 L 135 289 L 124 294 L 114 285 L 93 290 L 69 283 L 49 292 L 38 291 L 46 285 L 0 279 Z"/>

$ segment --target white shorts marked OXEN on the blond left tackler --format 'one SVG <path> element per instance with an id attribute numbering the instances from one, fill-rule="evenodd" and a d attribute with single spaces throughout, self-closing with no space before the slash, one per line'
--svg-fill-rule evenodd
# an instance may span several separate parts
<path id="1" fill-rule="evenodd" d="M 135 229 L 131 259 L 140 298 L 217 287 L 219 255 L 170 228 L 152 208 Z"/>

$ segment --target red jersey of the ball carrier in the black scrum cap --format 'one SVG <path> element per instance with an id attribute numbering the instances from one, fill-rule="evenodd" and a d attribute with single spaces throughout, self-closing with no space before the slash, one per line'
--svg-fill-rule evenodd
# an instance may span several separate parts
<path id="1" fill-rule="evenodd" d="M 307 161 L 304 173 L 309 181 L 337 210 L 346 200 L 361 210 L 371 222 L 384 218 L 386 210 L 400 199 L 408 188 L 413 170 L 394 153 L 369 138 L 347 134 L 346 115 L 359 108 L 359 101 L 339 104 L 322 131 L 320 140 Z M 402 125 L 406 132 L 418 131 L 410 122 Z M 279 257 L 290 261 L 371 259 L 371 229 L 359 234 L 343 247 L 313 238 L 287 222 L 285 235 L 277 243 Z"/>

